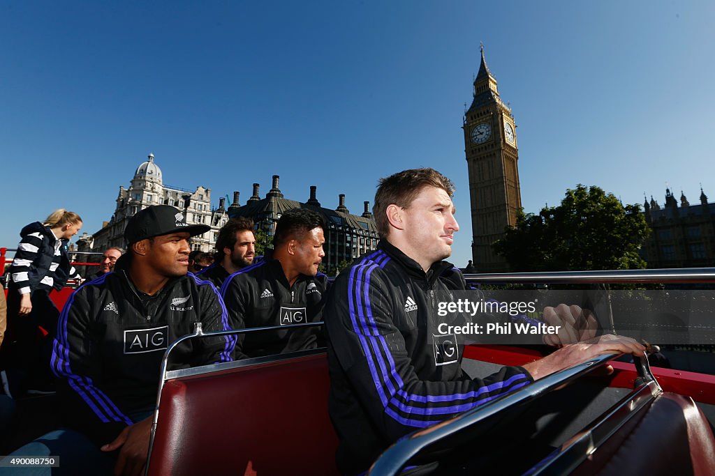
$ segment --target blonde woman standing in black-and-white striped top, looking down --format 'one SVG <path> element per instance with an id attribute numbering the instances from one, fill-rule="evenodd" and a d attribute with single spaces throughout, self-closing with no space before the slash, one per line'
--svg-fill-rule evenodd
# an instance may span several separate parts
<path id="1" fill-rule="evenodd" d="M 59 310 L 49 293 L 61 290 L 68 278 L 79 278 L 67 254 L 69 239 L 79 228 L 82 218 L 60 208 L 20 232 L 22 239 L 9 269 L 8 329 L 2 349 L 6 368 L 2 383 L 13 397 L 23 394 L 26 385 L 46 387 L 52 381 L 47 359 Z M 41 342 L 38 335 L 44 335 Z"/>

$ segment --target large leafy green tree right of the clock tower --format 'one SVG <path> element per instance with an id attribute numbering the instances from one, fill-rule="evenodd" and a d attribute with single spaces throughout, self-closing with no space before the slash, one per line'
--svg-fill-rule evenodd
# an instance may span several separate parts
<path id="1" fill-rule="evenodd" d="M 649 233 L 640 206 L 579 183 L 561 205 L 519 213 L 493 247 L 521 272 L 637 269 L 646 267 L 638 250 Z"/>

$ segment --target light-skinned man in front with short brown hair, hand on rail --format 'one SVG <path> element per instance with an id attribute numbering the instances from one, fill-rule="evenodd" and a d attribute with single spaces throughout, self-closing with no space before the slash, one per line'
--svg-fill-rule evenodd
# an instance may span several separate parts
<path id="1" fill-rule="evenodd" d="M 606 345 L 566 345 L 487 378 L 466 375 L 463 347 L 440 333 L 445 318 L 435 312 L 440 296 L 465 290 L 463 275 L 444 261 L 459 230 L 452 195 L 451 181 L 431 168 L 381 180 L 373 210 L 378 250 L 343 270 L 328 293 L 329 410 L 342 474 L 365 471 L 409 432 L 598 353 L 643 352 L 633 340 L 603 336 Z"/>

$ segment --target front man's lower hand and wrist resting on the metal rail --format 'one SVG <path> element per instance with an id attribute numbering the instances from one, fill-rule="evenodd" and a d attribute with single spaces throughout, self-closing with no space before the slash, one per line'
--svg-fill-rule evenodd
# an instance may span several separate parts
<path id="1" fill-rule="evenodd" d="M 642 356 L 646 348 L 628 337 L 606 334 L 578 344 L 567 344 L 551 355 L 523 366 L 534 380 L 551 375 L 573 365 L 591 360 L 600 354 L 624 353 Z M 610 370 L 613 371 L 613 368 Z"/>

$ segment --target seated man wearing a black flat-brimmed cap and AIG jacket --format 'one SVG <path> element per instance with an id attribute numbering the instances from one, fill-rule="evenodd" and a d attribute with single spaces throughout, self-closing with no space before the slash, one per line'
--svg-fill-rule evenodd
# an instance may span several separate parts
<path id="1" fill-rule="evenodd" d="M 143 474 L 164 351 L 194 323 L 204 331 L 229 328 L 216 288 L 187 275 L 189 238 L 206 231 L 172 206 L 129 220 L 129 250 L 114 272 L 82 285 L 59 319 L 51 367 L 65 427 L 15 455 L 59 455 L 68 475 Z M 204 338 L 179 345 L 169 368 L 230 360 L 233 344 Z"/>

